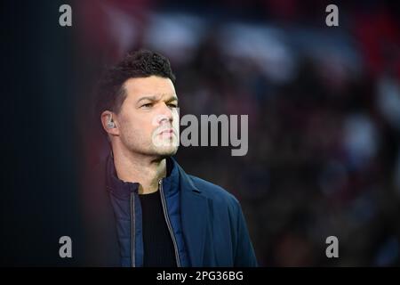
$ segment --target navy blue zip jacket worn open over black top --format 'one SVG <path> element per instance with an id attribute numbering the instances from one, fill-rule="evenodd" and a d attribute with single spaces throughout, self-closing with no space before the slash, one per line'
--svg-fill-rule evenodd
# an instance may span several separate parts
<path id="1" fill-rule="evenodd" d="M 123 200 L 131 195 L 138 197 L 137 183 L 119 180 L 112 161 L 108 157 L 106 163 L 93 171 L 92 183 L 88 186 L 91 204 L 86 208 L 85 265 L 126 266 L 133 262 L 141 266 L 139 199 L 133 198 L 134 227 L 131 227 L 132 220 L 126 222 L 122 218 L 126 215 Z M 180 266 L 257 266 L 237 199 L 220 186 L 187 175 L 174 159 L 168 159 L 167 166 L 161 187 Z"/>

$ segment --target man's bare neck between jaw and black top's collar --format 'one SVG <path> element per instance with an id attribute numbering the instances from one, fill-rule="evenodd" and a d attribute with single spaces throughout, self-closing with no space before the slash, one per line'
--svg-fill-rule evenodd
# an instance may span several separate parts
<path id="1" fill-rule="evenodd" d="M 158 182 L 166 175 L 166 160 L 132 153 L 113 147 L 116 175 L 124 182 L 139 183 L 139 193 L 158 190 Z"/>

